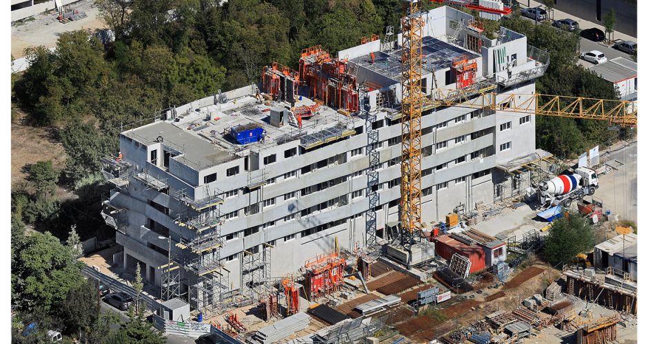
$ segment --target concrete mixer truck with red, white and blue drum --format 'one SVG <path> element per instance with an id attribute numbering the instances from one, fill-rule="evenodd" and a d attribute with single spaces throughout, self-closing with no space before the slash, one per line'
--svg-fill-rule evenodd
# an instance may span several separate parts
<path id="1" fill-rule="evenodd" d="M 540 203 L 547 206 L 558 204 L 571 205 L 573 200 L 582 200 L 586 195 L 594 195 L 598 189 L 596 171 L 587 167 L 578 167 L 573 174 L 558 175 L 544 182 L 537 189 Z"/>

